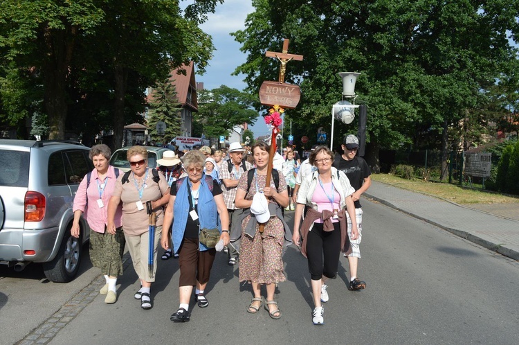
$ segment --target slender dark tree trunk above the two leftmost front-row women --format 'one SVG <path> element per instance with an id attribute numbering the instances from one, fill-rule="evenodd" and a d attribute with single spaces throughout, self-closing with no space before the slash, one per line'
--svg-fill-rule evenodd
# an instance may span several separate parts
<path id="1" fill-rule="evenodd" d="M 113 141 L 111 143 L 112 152 L 122 146 L 122 131 L 125 127 L 125 94 L 128 80 L 128 71 L 124 67 L 115 67 L 116 100 L 113 103 Z"/>

